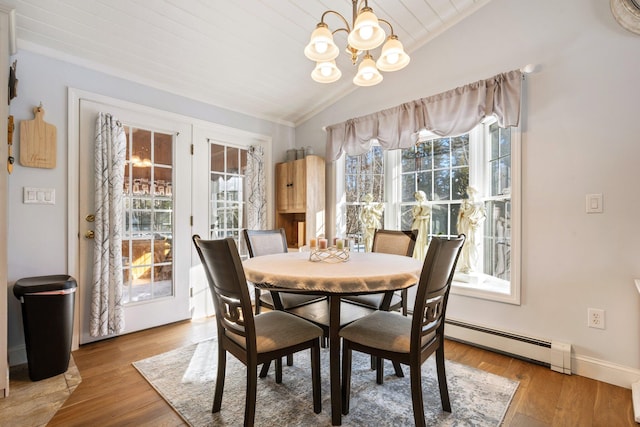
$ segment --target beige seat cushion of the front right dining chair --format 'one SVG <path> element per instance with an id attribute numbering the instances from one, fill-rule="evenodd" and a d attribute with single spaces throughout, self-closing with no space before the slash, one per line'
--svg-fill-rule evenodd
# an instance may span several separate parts
<path id="1" fill-rule="evenodd" d="M 342 328 L 340 336 L 368 347 L 409 353 L 411 321 L 411 317 L 397 312 L 376 311 Z M 422 345 L 426 345 L 434 336 L 435 332 L 423 337 Z"/>

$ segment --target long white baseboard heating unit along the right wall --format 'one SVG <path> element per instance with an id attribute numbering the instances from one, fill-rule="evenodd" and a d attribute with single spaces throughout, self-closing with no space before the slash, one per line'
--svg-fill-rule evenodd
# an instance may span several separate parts
<path id="1" fill-rule="evenodd" d="M 451 340 L 548 366 L 564 374 L 571 374 L 571 344 L 526 337 L 455 319 L 445 321 L 444 332 L 446 338 Z"/>

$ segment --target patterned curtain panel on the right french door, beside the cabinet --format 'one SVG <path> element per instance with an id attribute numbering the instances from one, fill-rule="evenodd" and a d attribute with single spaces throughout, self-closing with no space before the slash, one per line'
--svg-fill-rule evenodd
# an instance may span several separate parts
<path id="1" fill-rule="evenodd" d="M 247 228 L 264 230 L 267 228 L 267 191 L 265 187 L 264 148 L 259 145 L 249 147 L 247 153 L 246 189 Z"/>

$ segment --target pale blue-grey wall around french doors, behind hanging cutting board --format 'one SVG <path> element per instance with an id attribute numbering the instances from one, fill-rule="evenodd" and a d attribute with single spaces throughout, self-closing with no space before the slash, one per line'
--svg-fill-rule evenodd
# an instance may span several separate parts
<path id="1" fill-rule="evenodd" d="M 57 127 L 57 165 L 54 169 L 14 165 L 8 194 L 8 347 L 20 363 L 24 337 L 20 304 L 13 297 L 13 283 L 23 277 L 69 273 L 67 271 L 67 89 L 73 87 L 111 98 L 174 112 L 194 119 L 229 126 L 255 134 L 271 136 L 272 158 L 281 161 L 294 145 L 294 130 L 243 114 L 191 101 L 179 96 L 107 76 L 69 63 L 18 50 L 11 61 L 18 61 L 18 97 L 11 101 L 15 117 L 14 157 L 19 158 L 21 120 L 33 119 L 33 108 L 42 102 L 44 120 Z M 23 187 L 54 188 L 55 205 L 22 203 Z M 72 242 L 75 244 L 75 242 Z M 18 350 L 16 350 L 18 349 Z M 21 355 L 22 353 L 22 355 Z M 12 360 L 12 364 L 13 364 Z"/>

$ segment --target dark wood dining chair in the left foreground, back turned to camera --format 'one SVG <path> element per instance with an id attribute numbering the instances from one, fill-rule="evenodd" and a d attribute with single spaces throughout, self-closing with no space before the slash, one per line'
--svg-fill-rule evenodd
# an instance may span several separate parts
<path id="1" fill-rule="evenodd" d="M 247 391 L 244 425 L 255 419 L 258 365 L 276 360 L 276 382 L 282 382 L 282 357 L 309 349 L 311 352 L 311 387 L 313 411 L 322 410 L 320 395 L 320 337 L 322 329 L 311 322 L 283 311 L 254 315 L 249 288 L 238 248 L 231 237 L 202 240 L 197 234 L 193 243 L 204 267 L 218 328 L 218 371 L 212 412 L 222 406 L 227 352 L 247 367 Z M 281 402 L 280 404 L 286 404 Z"/>

